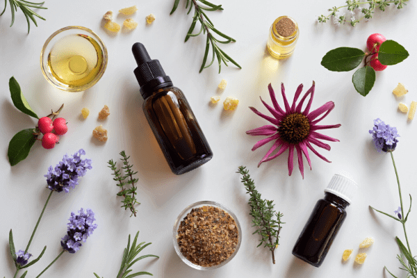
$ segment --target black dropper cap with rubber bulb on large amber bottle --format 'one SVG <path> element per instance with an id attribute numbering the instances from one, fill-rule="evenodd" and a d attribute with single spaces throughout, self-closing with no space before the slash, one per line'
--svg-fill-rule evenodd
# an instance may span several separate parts
<path id="1" fill-rule="evenodd" d="M 144 99 L 161 88 L 172 87 L 170 76 L 165 75 L 159 60 L 151 60 L 143 44 L 136 42 L 132 47 L 138 67 L 133 71 L 140 85 L 140 94 Z"/>

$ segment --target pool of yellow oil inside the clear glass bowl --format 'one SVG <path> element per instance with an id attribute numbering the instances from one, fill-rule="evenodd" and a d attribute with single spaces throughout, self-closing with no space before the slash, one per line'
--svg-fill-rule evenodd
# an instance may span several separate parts
<path id="1" fill-rule="evenodd" d="M 67 35 L 54 44 L 48 55 L 52 76 L 70 88 L 93 81 L 102 65 L 101 47 L 88 35 Z"/>

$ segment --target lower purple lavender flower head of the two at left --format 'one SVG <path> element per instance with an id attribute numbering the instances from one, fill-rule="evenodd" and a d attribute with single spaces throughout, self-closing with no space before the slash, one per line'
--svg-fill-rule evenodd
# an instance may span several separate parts
<path id="1" fill-rule="evenodd" d="M 81 240 L 85 243 L 92 231 L 97 228 L 95 224 L 94 213 L 90 208 L 84 210 L 81 208 L 79 214 L 71 213 L 70 222 L 68 222 L 67 234 L 61 238 L 61 246 L 70 253 L 75 253 L 82 246 Z"/>

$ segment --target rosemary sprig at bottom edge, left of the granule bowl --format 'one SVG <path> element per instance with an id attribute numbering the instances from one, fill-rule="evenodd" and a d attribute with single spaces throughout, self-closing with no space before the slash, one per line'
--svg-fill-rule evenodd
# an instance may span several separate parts
<path id="1" fill-rule="evenodd" d="M 123 259 L 122 259 L 122 265 L 120 265 L 120 270 L 119 270 L 119 274 L 117 274 L 117 278 L 127 278 L 127 277 L 136 277 L 139 275 L 152 275 L 152 273 L 149 272 L 136 272 L 133 274 L 130 274 L 131 267 L 133 266 L 134 263 L 140 261 L 141 259 L 145 259 L 147 257 L 153 256 L 155 258 L 159 258 L 159 256 L 156 255 L 145 255 L 145 256 L 140 256 L 139 258 L 136 259 L 136 256 L 138 256 L 138 254 L 140 253 L 140 251 L 144 250 L 145 247 L 147 247 L 148 245 L 151 245 L 152 243 L 139 243 L 138 245 L 136 245 L 137 241 L 138 241 L 138 236 L 139 236 L 139 231 L 138 233 L 136 233 L 135 239 L 133 240 L 132 246 L 130 246 L 130 235 L 129 235 L 129 240 L 127 241 L 127 247 L 124 248 L 124 253 L 123 253 Z M 133 261 L 134 260 L 134 261 Z M 97 275 L 94 272 L 95 277 L 100 278 L 99 275 Z"/>

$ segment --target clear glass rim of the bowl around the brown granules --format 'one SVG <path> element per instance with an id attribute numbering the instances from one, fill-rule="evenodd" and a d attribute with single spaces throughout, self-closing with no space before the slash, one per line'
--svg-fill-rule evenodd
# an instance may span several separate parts
<path id="1" fill-rule="evenodd" d="M 192 208 L 199 208 L 199 207 L 202 207 L 202 206 L 214 206 L 214 207 L 217 207 L 217 208 L 221 208 L 223 211 L 226 211 L 227 213 L 229 213 L 229 215 L 236 222 L 236 227 L 238 228 L 238 234 L 239 234 L 238 244 L 236 245 L 236 250 L 234 251 L 234 253 L 231 254 L 231 256 L 229 256 L 229 258 L 226 261 L 223 261 L 222 263 L 219 263 L 218 265 L 213 265 L 213 266 L 210 266 L 210 267 L 203 267 L 203 266 L 196 265 L 195 263 L 192 263 L 192 262 L 188 261 L 186 256 L 184 256 L 181 253 L 181 250 L 180 250 L 179 245 L 177 243 L 178 228 L 179 228 L 179 224 L 181 224 L 181 221 L 183 220 L 183 218 L 185 218 L 186 215 L 188 213 L 190 213 Z M 231 259 L 233 259 L 234 256 L 236 256 L 236 253 L 239 251 L 240 243 L 242 243 L 242 229 L 240 228 L 240 223 L 238 221 L 238 218 L 236 218 L 236 215 L 234 213 L 232 213 L 229 208 L 227 208 L 226 206 L 223 206 L 222 204 L 216 203 L 216 202 L 201 201 L 201 202 L 197 202 L 197 203 L 194 203 L 194 204 L 190 204 L 190 206 L 187 206 L 186 208 L 184 208 L 183 211 L 181 211 L 181 213 L 179 213 L 177 220 L 175 220 L 174 228 L 172 230 L 172 240 L 173 240 L 173 243 L 174 243 L 175 251 L 177 252 L 178 256 L 181 258 L 181 260 L 184 263 L 186 263 L 190 267 L 195 268 L 197 270 L 213 270 L 215 268 L 220 268 L 221 266 L 225 265 L 226 263 L 229 263 L 229 261 L 231 261 Z"/>

